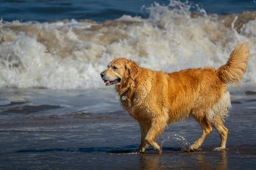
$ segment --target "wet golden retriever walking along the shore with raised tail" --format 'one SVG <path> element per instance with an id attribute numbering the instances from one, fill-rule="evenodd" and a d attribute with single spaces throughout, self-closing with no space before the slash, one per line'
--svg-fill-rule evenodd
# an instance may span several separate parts
<path id="1" fill-rule="evenodd" d="M 201 136 L 189 150 L 201 147 L 214 127 L 226 148 L 228 130 L 223 125 L 231 107 L 227 85 L 237 84 L 247 69 L 250 52 L 247 44 L 237 45 L 225 65 L 190 68 L 167 73 L 140 67 L 125 58 L 114 59 L 100 76 L 106 85 L 115 85 L 123 108 L 138 120 L 141 144 L 138 152 L 151 145 L 162 153 L 156 142 L 165 127 L 193 116 L 202 128 Z"/>

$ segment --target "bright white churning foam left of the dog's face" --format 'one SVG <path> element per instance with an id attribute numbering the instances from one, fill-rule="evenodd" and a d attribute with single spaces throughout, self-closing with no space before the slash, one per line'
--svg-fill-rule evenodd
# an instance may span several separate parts
<path id="1" fill-rule="evenodd" d="M 1 87 L 70 89 L 99 84 L 95 77 L 99 77 L 100 70 L 95 63 L 46 53 L 46 47 L 35 37 L 19 35 L 13 42 L 2 43 L 0 51 Z"/>

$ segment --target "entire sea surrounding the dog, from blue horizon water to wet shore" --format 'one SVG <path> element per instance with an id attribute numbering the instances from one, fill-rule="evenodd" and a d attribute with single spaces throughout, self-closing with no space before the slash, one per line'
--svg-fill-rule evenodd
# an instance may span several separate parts
<path id="1" fill-rule="evenodd" d="M 1 1 L 0 169 L 253 169 L 256 162 L 255 1 Z M 99 73 L 118 57 L 163 71 L 226 63 L 239 43 L 252 57 L 230 88 L 227 150 L 187 152 L 193 119 L 152 148 Z"/>

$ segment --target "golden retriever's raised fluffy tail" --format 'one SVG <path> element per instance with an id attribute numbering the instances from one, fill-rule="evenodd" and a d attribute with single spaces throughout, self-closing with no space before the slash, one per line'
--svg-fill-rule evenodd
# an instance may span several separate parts
<path id="1" fill-rule="evenodd" d="M 220 80 L 230 85 L 237 84 L 247 69 L 247 62 L 250 56 L 246 43 L 237 45 L 230 54 L 227 63 L 217 69 L 217 75 Z"/>

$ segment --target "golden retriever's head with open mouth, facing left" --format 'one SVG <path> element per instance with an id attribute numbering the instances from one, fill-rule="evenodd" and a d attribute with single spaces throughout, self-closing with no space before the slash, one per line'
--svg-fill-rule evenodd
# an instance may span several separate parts
<path id="1" fill-rule="evenodd" d="M 128 80 L 135 80 L 139 66 L 136 62 L 125 58 L 117 58 L 111 61 L 108 69 L 102 71 L 100 76 L 104 83 L 109 85 L 120 85 Z"/>

